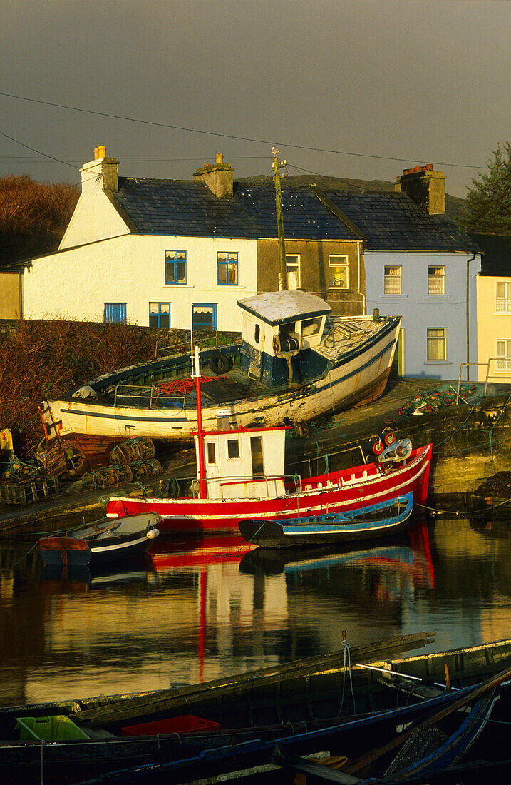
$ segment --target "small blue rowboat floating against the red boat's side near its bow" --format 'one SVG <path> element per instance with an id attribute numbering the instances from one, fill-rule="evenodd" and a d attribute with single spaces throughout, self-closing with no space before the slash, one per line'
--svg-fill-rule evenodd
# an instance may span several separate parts
<path id="1" fill-rule="evenodd" d="M 335 542 L 372 539 L 396 534 L 408 525 L 413 494 L 379 502 L 346 513 L 284 520 L 240 520 L 241 536 L 266 548 L 324 546 Z"/>

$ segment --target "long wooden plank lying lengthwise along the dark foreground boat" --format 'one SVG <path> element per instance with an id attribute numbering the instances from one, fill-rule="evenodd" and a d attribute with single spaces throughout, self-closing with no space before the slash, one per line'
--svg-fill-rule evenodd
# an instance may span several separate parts
<path id="1" fill-rule="evenodd" d="M 353 646 L 353 648 L 350 648 L 351 663 L 352 665 L 367 663 L 390 652 L 419 648 L 433 642 L 434 634 L 412 633 L 411 635 L 392 638 L 389 641 L 379 641 L 367 646 Z M 117 702 L 108 703 L 107 706 L 85 710 L 70 716 L 76 722 L 90 721 L 92 724 L 102 724 L 132 717 L 141 717 L 144 714 L 169 711 L 179 706 L 186 706 L 201 696 L 212 696 L 216 692 L 221 692 L 222 695 L 232 695 L 242 687 L 249 687 L 252 684 L 259 685 L 263 681 L 265 685 L 270 686 L 277 684 L 283 678 L 321 673 L 322 671 L 339 668 L 342 667 L 344 657 L 345 649 L 341 649 L 333 654 L 306 657 L 305 659 L 295 660 L 281 666 L 260 668 L 259 670 L 249 671 L 246 674 L 237 674 L 223 679 L 216 679 L 215 681 L 206 681 L 203 684 L 161 690 L 146 694 L 140 698 L 121 699 Z"/>

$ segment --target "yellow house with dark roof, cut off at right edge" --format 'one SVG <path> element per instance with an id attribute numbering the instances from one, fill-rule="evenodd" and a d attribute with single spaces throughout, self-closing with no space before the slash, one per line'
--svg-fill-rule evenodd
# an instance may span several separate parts
<path id="1" fill-rule="evenodd" d="M 479 379 L 511 382 L 511 235 L 472 235 L 483 251 L 477 276 Z"/>

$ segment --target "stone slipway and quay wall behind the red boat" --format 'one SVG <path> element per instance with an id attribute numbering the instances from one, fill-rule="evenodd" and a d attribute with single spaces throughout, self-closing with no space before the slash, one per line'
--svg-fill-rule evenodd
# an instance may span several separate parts
<path id="1" fill-rule="evenodd" d="M 381 433 L 386 426 L 397 438 L 408 436 L 418 447 L 433 443 L 428 506 L 433 509 L 466 512 L 473 491 L 489 476 L 511 468 L 511 385 L 484 385 L 457 406 L 439 411 L 400 416 L 408 400 L 433 389 L 451 391 L 446 382 L 422 378 L 393 378 L 382 397 L 367 406 L 323 418 L 309 425 L 307 436 L 296 436 L 286 448 L 286 473 L 322 473 L 325 458 L 328 468 L 339 469 L 361 462 L 360 446 Z M 194 448 L 180 451 L 164 464 L 164 476 L 194 476 Z M 161 478 L 158 478 L 161 479 Z M 154 479 L 147 484 L 151 493 Z M 63 493 L 45 502 L 26 507 L 0 506 L 0 536 L 18 539 L 42 531 L 64 528 L 82 520 L 103 517 L 102 497 L 113 493 L 140 494 L 140 484 L 111 489 L 83 489 L 80 482 L 64 488 Z M 58 519 L 58 520 L 56 520 Z"/>

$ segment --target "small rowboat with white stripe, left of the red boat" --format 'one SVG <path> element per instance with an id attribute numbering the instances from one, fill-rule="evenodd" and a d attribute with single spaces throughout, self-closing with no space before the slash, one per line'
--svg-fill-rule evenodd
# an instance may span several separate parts
<path id="1" fill-rule="evenodd" d="M 108 518 L 72 531 L 63 537 L 45 537 L 38 542 L 45 564 L 93 566 L 131 559 L 145 553 L 159 535 L 158 513 Z"/>

